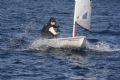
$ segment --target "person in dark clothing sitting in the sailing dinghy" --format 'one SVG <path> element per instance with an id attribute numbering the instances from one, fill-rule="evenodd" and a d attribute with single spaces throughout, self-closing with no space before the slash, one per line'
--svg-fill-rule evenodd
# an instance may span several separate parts
<path id="1" fill-rule="evenodd" d="M 60 34 L 59 26 L 56 26 L 56 19 L 51 17 L 49 22 L 43 26 L 41 31 L 42 38 L 56 38 Z"/>

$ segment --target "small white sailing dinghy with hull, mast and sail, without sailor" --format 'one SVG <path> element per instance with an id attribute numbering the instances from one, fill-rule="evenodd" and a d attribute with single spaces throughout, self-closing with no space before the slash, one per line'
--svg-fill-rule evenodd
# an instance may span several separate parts
<path id="1" fill-rule="evenodd" d="M 91 22 L 91 1 L 75 0 L 73 35 L 68 38 L 47 39 L 47 46 L 53 48 L 84 48 L 86 43 L 85 36 L 75 36 L 76 23 L 82 28 L 90 29 Z M 39 46 L 39 44 L 37 44 Z M 39 46 L 40 47 L 40 46 Z"/>

